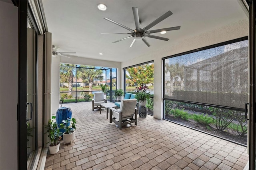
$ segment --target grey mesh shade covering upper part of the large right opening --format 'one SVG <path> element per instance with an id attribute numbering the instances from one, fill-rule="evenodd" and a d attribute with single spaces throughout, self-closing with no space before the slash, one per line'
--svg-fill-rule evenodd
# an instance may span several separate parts
<path id="1" fill-rule="evenodd" d="M 244 108 L 248 40 L 164 59 L 164 98 Z"/>

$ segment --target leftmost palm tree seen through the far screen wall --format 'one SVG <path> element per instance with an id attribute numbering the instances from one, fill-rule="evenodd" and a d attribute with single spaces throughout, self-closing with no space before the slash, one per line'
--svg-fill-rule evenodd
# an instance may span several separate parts
<path id="1" fill-rule="evenodd" d="M 73 81 L 74 81 L 74 71 L 76 70 L 76 65 L 74 64 L 60 64 L 60 77 L 65 77 L 68 82 L 68 95 L 72 95 Z"/>

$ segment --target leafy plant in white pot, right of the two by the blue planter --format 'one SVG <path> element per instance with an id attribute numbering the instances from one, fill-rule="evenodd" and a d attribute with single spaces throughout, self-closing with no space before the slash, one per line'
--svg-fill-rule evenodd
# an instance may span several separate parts
<path id="1" fill-rule="evenodd" d="M 62 122 L 60 128 L 65 130 L 63 133 L 63 144 L 72 144 L 75 140 L 76 119 L 68 118 L 67 120 L 62 120 Z"/>

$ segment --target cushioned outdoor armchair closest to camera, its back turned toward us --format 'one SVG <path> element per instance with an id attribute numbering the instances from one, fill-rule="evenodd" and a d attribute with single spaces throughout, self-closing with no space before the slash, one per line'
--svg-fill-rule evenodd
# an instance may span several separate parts
<path id="1" fill-rule="evenodd" d="M 135 123 L 137 125 L 137 100 L 136 99 L 123 99 L 121 100 L 120 108 L 110 108 L 110 119 L 122 130 L 122 126 Z M 135 115 L 134 115 L 135 114 Z"/>

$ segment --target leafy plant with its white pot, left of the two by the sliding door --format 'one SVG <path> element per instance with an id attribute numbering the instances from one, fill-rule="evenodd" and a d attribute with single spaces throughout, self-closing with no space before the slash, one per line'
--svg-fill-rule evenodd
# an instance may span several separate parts
<path id="1" fill-rule="evenodd" d="M 50 154 L 56 154 L 60 150 L 60 135 L 62 135 L 62 132 L 60 132 L 58 124 L 53 119 L 48 121 L 48 125 L 46 125 L 45 128 L 47 129 L 46 133 L 48 133 L 50 139 Z"/>

